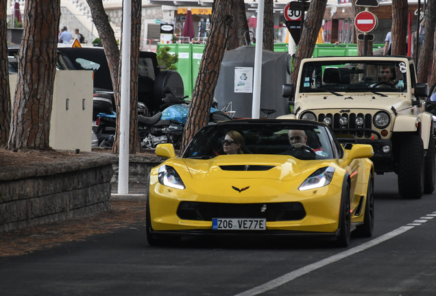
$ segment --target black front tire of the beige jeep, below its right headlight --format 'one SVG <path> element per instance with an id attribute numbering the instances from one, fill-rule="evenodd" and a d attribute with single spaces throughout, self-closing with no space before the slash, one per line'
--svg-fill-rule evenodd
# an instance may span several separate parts
<path id="1" fill-rule="evenodd" d="M 424 194 L 424 145 L 421 136 L 404 136 L 398 155 L 398 191 L 404 199 L 420 199 Z"/>

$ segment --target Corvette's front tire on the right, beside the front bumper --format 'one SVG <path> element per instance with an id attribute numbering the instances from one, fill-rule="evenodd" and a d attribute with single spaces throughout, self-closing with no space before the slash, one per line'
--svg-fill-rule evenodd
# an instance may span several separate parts
<path id="1" fill-rule="evenodd" d="M 341 219 L 339 221 L 339 236 L 336 239 L 338 247 L 348 247 L 351 240 L 350 185 L 345 181 L 342 186 Z"/>

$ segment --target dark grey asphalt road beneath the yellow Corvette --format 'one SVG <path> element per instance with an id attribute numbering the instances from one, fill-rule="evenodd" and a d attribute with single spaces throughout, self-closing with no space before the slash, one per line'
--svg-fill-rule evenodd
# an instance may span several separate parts
<path id="1" fill-rule="evenodd" d="M 376 175 L 372 238 L 348 248 L 284 239 L 150 247 L 144 225 L 0 258 L 0 295 L 435 295 L 436 194 L 400 199 Z"/>

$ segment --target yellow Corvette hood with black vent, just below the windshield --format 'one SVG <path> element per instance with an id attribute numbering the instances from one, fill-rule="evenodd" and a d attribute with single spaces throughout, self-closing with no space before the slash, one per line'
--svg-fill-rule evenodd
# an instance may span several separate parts
<path id="1" fill-rule="evenodd" d="M 237 155 L 218 156 L 211 160 L 184 159 L 186 168 L 196 182 L 202 180 L 268 179 L 291 181 L 304 179 L 331 160 L 298 160 L 291 156 Z"/>

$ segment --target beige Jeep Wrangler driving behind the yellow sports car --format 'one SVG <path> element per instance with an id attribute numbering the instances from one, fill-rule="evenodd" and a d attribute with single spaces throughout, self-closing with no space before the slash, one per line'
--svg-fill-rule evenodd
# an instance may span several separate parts
<path id="1" fill-rule="evenodd" d="M 435 190 L 433 117 L 424 110 L 428 85 L 416 82 L 411 58 L 304 59 L 297 85 L 284 85 L 283 96 L 291 114 L 279 118 L 321 121 L 339 138 L 372 145 L 376 173 L 395 172 L 401 197 Z"/>

